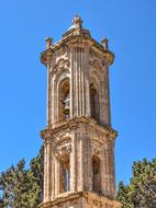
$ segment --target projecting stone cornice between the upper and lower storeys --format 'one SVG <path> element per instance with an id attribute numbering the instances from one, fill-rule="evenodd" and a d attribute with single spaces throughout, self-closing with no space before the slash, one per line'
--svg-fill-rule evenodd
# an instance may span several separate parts
<path id="1" fill-rule="evenodd" d="M 101 126 L 91 117 L 74 117 L 68 120 L 62 120 L 55 124 L 47 126 L 44 130 L 41 131 L 41 136 L 44 140 L 46 138 L 54 137 L 56 134 L 64 131 L 66 129 L 77 129 L 81 125 L 89 125 L 88 127 L 96 128 L 96 130 L 101 131 L 108 139 L 115 139 L 118 132 L 111 127 Z"/>

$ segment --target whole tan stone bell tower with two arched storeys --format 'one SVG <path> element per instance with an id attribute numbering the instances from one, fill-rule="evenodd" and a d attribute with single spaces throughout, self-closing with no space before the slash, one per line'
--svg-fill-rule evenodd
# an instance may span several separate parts
<path id="1" fill-rule="evenodd" d="M 120 208 L 114 200 L 114 141 L 109 67 L 114 55 L 76 15 L 63 38 L 46 38 L 47 126 L 42 208 Z"/>

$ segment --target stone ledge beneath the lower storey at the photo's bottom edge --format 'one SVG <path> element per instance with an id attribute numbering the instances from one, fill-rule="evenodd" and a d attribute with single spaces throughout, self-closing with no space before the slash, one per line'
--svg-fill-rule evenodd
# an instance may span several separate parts
<path id="1" fill-rule="evenodd" d="M 52 201 L 43 203 L 38 208 L 121 208 L 122 205 L 100 194 L 90 192 L 64 193 Z"/>

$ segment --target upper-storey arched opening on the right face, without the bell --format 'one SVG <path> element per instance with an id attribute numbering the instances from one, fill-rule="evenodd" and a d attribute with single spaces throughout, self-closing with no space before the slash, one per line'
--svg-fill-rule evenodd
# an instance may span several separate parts
<path id="1" fill-rule="evenodd" d="M 99 92 L 93 83 L 90 84 L 90 112 L 91 117 L 99 122 Z"/>

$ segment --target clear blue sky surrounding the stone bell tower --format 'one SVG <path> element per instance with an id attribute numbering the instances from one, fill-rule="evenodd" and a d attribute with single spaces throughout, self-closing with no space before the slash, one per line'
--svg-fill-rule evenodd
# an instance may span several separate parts
<path id="1" fill-rule="evenodd" d="M 156 1 L 0 1 L 0 171 L 36 155 L 46 125 L 45 37 L 57 42 L 74 15 L 97 41 L 110 39 L 116 182 L 132 163 L 156 157 Z"/>

